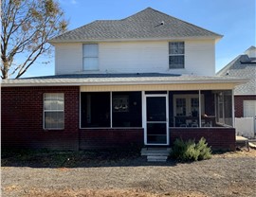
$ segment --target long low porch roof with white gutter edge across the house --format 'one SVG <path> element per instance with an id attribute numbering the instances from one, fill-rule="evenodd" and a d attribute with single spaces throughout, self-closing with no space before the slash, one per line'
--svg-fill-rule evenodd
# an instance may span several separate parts
<path id="1" fill-rule="evenodd" d="M 64 86 L 64 85 L 130 85 L 130 84 L 201 84 L 242 83 L 244 79 L 204 77 L 159 73 L 137 74 L 75 74 L 3 80 L 2 86 Z"/>

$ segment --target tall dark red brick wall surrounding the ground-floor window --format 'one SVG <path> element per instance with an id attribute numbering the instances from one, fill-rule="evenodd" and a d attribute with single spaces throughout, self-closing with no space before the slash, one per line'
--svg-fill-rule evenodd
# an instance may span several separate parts
<path id="1" fill-rule="evenodd" d="M 79 87 L 2 87 L 2 147 L 78 150 Z M 64 93 L 64 130 L 43 129 L 44 93 Z"/>

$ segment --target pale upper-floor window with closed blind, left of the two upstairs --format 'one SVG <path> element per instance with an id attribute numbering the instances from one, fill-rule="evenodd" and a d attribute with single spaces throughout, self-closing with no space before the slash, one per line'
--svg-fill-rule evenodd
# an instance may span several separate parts
<path id="1" fill-rule="evenodd" d="M 99 69 L 99 45 L 84 44 L 82 45 L 82 67 L 83 70 Z"/>

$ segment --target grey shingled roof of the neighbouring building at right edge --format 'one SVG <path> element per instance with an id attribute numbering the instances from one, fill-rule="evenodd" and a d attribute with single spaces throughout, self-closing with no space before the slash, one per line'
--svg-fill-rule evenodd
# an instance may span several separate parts
<path id="1" fill-rule="evenodd" d="M 246 53 L 250 51 L 248 54 L 254 54 L 255 52 L 251 53 L 251 50 L 255 51 L 255 46 L 249 47 Z M 234 95 L 256 95 L 256 61 L 253 57 L 254 55 L 250 57 L 247 54 L 239 55 L 217 73 L 217 76 L 230 76 L 249 80 L 245 84 L 238 85 L 234 90 Z"/>

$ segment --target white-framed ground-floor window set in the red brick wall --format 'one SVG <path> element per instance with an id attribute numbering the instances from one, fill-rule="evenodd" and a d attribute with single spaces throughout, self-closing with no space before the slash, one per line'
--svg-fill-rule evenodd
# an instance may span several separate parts
<path id="1" fill-rule="evenodd" d="M 44 95 L 44 129 L 64 129 L 64 94 Z"/>

